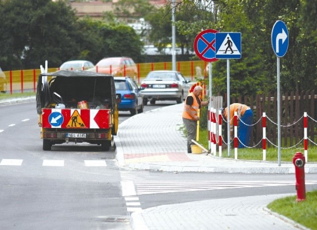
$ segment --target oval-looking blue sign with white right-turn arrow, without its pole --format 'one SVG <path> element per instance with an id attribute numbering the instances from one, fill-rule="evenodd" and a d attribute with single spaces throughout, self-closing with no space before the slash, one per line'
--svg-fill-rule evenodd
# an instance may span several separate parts
<path id="1" fill-rule="evenodd" d="M 283 57 L 288 48 L 288 30 L 283 21 L 276 21 L 272 33 L 271 43 L 277 57 Z"/>

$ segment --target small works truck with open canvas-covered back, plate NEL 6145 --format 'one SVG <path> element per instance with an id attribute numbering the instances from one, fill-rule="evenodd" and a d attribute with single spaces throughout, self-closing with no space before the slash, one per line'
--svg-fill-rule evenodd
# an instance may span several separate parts
<path id="1" fill-rule="evenodd" d="M 111 74 L 84 70 L 42 72 L 36 91 L 36 107 L 43 150 L 55 144 L 90 143 L 108 151 L 118 130 L 117 104 Z"/>

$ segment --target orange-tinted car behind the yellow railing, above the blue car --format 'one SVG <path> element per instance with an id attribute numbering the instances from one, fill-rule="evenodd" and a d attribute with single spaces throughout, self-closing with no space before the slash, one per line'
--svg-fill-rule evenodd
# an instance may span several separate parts
<path id="1" fill-rule="evenodd" d="M 128 76 L 134 81 L 138 72 L 135 62 L 128 57 L 103 58 L 90 71 L 110 73 L 113 76 Z"/>

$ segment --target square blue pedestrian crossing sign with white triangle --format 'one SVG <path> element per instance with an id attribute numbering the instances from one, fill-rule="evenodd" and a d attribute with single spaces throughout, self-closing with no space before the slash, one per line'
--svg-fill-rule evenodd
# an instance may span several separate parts
<path id="1" fill-rule="evenodd" d="M 241 33 L 216 33 L 215 50 L 215 58 L 241 58 Z"/>

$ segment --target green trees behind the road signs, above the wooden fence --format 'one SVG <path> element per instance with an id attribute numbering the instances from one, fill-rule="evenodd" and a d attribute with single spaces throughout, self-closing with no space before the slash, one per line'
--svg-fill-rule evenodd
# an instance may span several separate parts
<path id="1" fill-rule="evenodd" d="M 231 96 L 276 91 L 276 56 L 270 41 L 276 20 L 284 21 L 289 32 L 288 51 L 280 60 L 281 91 L 316 89 L 317 1 L 184 0 L 181 4 L 182 14 L 191 15 L 176 23 L 183 35 L 195 37 L 204 29 L 241 32 L 242 58 L 230 60 Z M 226 60 L 214 63 L 213 92 L 226 92 L 226 68 Z"/>

